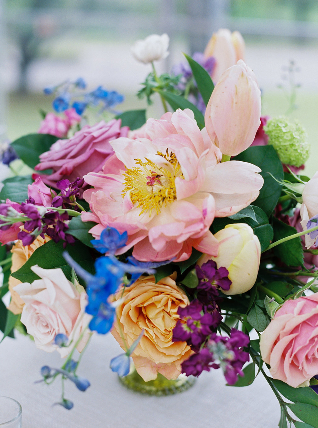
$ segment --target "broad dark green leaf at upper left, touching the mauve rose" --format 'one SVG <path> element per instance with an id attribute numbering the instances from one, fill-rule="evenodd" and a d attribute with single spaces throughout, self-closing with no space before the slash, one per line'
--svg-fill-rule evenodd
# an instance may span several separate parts
<path id="1" fill-rule="evenodd" d="M 39 163 L 39 156 L 50 150 L 53 143 L 59 140 L 58 137 L 50 134 L 29 134 L 18 138 L 11 146 L 15 149 L 20 159 L 30 168 L 34 169 Z"/>

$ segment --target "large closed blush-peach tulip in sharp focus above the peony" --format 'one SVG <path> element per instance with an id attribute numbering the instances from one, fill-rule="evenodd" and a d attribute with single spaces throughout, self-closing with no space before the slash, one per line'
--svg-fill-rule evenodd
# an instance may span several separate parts
<path id="1" fill-rule="evenodd" d="M 261 92 L 244 61 L 228 68 L 206 106 L 206 131 L 224 155 L 236 156 L 254 140 L 260 125 Z"/>

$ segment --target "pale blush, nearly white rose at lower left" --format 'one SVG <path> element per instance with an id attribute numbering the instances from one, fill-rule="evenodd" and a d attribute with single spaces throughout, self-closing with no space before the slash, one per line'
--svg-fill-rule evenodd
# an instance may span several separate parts
<path id="1" fill-rule="evenodd" d="M 54 344 L 54 338 L 63 333 L 69 342 L 77 342 L 91 319 L 85 313 L 87 295 L 82 285 L 75 287 L 66 279 L 62 269 L 42 269 L 38 265 L 31 269 L 41 279 L 15 286 L 15 291 L 25 303 L 21 322 L 34 337 L 37 348 L 47 352 L 57 350 L 61 357 L 65 357 L 71 347 L 59 348 Z M 77 346 L 79 352 L 86 345 L 89 334 L 90 331 L 86 330 Z"/>

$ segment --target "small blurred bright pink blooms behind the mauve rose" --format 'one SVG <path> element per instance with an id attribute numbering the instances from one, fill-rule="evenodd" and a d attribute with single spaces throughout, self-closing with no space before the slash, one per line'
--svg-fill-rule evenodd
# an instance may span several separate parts
<path id="1" fill-rule="evenodd" d="M 57 116 L 55 113 L 47 113 L 41 122 L 39 134 L 51 134 L 59 138 L 67 136 L 69 129 L 81 121 L 74 108 L 64 111 L 65 118 Z"/>

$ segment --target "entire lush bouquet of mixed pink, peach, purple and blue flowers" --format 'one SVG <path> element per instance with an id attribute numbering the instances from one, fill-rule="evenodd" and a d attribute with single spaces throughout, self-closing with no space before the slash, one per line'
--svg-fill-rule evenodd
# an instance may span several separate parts
<path id="1" fill-rule="evenodd" d="M 299 174 L 306 132 L 261 116 L 239 33 L 220 30 L 158 76 L 168 43 L 132 48 L 153 66 L 138 97 L 159 94 L 161 117 L 115 112 L 122 95 L 77 79 L 44 90 L 60 116 L 3 146 L 3 164 L 20 158 L 31 173 L 0 192 L 0 329 L 61 354 L 62 368 L 42 367 L 46 383 L 85 391 L 82 352 L 110 332 L 121 377 L 131 359 L 144 381 L 222 369 L 247 386 L 261 374 L 281 428 L 318 427 L 318 172 Z M 73 407 L 64 393 L 59 404 Z"/>

